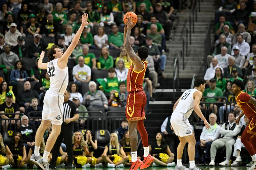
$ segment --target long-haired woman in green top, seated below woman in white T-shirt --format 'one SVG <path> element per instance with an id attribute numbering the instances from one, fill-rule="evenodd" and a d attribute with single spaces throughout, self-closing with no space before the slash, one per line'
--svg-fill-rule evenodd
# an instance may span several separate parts
<path id="1" fill-rule="evenodd" d="M 98 59 L 98 61 L 100 62 L 100 67 L 98 67 L 98 69 L 101 70 L 108 70 L 109 68 L 114 66 L 113 57 L 109 55 L 107 47 L 101 48 L 100 58 Z"/>

